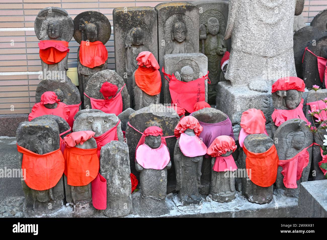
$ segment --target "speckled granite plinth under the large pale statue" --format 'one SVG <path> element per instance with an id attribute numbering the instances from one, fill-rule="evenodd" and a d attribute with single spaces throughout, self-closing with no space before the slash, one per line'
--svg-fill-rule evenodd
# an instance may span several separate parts
<path id="1" fill-rule="evenodd" d="M 271 93 L 250 90 L 248 87 L 232 87 L 229 81 L 217 85 L 216 109 L 226 113 L 232 124 L 239 124 L 241 115 L 249 108 L 263 111 L 267 122 L 273 112 Z"/>

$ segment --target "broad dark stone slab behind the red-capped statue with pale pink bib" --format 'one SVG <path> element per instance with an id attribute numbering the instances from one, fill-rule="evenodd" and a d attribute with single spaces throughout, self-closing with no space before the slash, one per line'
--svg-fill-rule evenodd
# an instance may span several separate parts
<path id="1" fill-rule="evenodd" d="M 128 139 L 130 169 L 131 173 L 138 179 L 140 173 L 135 168 L 135 151 L 144 130 L 150 126 L 158 126 L 163 130 L 163 136 L 174 136 L 174 128 L 179 121 L 178 114 L 173 109 L 167 108 L 162 104 L 153 104 L 129 115 L 130 125 L 126 127 L 126 138 Z M 170 151 L 170 159 L 173 159 L 176 137 L 168 137 L 165 141 Z M 176 188 L 174 165 L 168 169 L 167 174 L 167 193 L 170 193 Z"/>

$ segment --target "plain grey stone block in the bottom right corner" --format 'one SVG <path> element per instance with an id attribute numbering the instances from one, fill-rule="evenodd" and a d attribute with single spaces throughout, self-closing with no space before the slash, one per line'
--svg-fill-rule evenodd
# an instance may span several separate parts
<path id="1" fill-rule="evenodd" d="M 300 185 L 299 217 L 327 217 L 327 180 Z"/>

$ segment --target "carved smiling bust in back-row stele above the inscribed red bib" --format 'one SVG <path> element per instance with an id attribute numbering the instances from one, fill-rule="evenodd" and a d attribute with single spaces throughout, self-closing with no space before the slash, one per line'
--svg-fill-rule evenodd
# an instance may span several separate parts
<path id="1" fill-rule="evenodd" d="M 193 45 L 186 40 L 186 26 L 182 22 L 174 23 L 171 32 L 172 41 L 165 47 L 164 54 L 194 53 Z"/>

